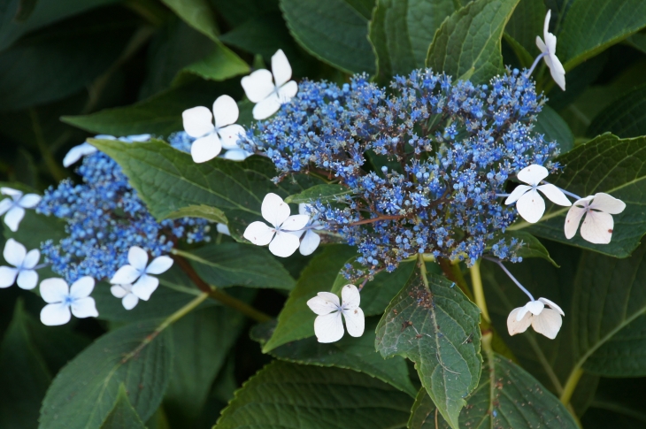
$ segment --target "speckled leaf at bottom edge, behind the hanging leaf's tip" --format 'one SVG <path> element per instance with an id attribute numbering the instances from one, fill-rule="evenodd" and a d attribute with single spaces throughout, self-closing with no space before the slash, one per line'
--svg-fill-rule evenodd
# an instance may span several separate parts
<path id="1" fill-rule="evenodd" d="M 488 359 L 488 371 L 482 372 L 478 390 L 468 399 L 459 421 L 460 427 L 496 429 L 579 427 L 556 396 L 518 365 L 494 353 Z M 421 389 L 412 406 L 408 429 L 449 427 L 442 415 L 438 415 L 427 391 Z"/>

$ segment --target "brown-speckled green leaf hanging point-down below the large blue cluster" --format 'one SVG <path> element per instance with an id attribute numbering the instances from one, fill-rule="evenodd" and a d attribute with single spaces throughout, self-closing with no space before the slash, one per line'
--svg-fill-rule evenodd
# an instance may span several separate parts
<path id="1" fill-rule="evenodd" d="M 479 323 L 480 310 L 459 287 L 416 268 L 377 326 L 376 349 L 415 363 L 422 385 L 453 428 L 481 375 Z"/>

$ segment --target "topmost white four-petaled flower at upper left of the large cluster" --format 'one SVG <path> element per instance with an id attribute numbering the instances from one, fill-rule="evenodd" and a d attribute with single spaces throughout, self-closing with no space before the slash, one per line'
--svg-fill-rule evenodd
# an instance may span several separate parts
<path id="1" fill-rule="evenodd" d="M 242 88 L 253 106 L 253 119 L 267 119 L 296 96 L 298 84 L 289 80 L 292 68 L 282 50 L 277 50 L 272 57 L 272 72 L 261 69 L 242 78 Z"/>

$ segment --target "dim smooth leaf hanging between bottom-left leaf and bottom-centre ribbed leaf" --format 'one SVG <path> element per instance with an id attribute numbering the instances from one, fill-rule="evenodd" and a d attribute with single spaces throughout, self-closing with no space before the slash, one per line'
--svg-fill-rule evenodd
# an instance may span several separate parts
<path id="1" fill-rule="evenodd" d="M 211 384 L 243 324 L 242 313 L 211 307 L 193 311 L 173 325 L 173 375 L 164 396 L 164 410 L 172 421 L 196 427 Z"/>

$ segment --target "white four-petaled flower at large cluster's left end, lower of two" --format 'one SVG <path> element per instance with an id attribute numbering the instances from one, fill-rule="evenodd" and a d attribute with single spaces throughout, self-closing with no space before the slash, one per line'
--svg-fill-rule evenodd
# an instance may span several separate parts
<path id="1" fill-rule="evenodd" d="M 230 96 L 219 96 L 213 103 L 212 114 L 204 106 L 193 107 L 181 113 L 184 131 L 197 139 L 190 147 L 193 161 L 209 161 L 217 157 L 222 148 L 240 149 L 237 144 L 238 134 L 244 134 L 244 128 L 235 125 L 238 114 L 238 104 Z"/>

